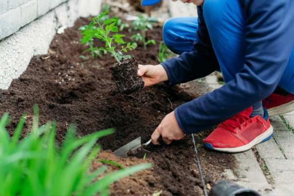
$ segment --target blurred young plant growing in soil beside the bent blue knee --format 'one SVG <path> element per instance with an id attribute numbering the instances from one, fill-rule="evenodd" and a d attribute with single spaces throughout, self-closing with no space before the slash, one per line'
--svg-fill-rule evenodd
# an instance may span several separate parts
<path id="1" fill-rule="evenodd" d="M 140 30 L 140 33 L 135 33 L 132 35 L 132 40 L 136 42 L 141 41 L 144 49 L 146 49 L 147 45 L 149 44 L 156 44 L 155 40 L 147 39 L 147 30 L 153 28 L 153 25 L 148 18 L 144 17 L 143 15 L 138 15 L 138 20 L 133 21 L 132 25 L 134 30 Z"/>

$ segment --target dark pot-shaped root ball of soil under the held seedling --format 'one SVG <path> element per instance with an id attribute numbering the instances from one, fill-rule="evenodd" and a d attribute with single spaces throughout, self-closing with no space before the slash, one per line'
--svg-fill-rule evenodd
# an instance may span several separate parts
<path id="1" fill-rule="evenodd" d="M 133 93 L 144 87 L 142 77 L 137 75 L 138 65 L 138 60 L 136 57 L 133 57 L 110 67 L 113 79 L 120 93 Z"/>

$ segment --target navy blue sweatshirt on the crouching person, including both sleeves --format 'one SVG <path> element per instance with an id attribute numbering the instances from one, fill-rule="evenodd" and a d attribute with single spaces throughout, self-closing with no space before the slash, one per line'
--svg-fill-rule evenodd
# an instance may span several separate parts
<path id="1" fill-rule="evenodd" d="M 221 123 L 268 97 L 278 86 L 287 66 L 294 48 L 294 0 L 240 0 L 240 3 L 247 29 L 244 68 L 220 89 L 175 109 L 176 120 L 185 134 Z M 197 36 L 199 41 L 193 51 L 162 63 L 169 85 L 218 70 L 200 6 Z"/>

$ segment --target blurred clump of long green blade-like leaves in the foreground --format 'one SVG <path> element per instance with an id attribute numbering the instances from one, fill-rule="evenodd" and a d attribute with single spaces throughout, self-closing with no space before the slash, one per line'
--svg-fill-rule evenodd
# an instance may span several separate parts
<path id="1" fill-rule="evenodd" d="M 0 119 L 0 196 L 107 196 L 111 183 L 150 167 L 137 165 L 105 174 L 107 167 L 102 166 L 90 172 L 100 149 L 97 140 L 113 133 L 112 129 L 76 138 L 71 125 L 59 148 L 55 145 L 56 123 L 39 127 L 37 107 L 32 131 L 23 140 L 25 116 L 12 137 L 5 128 L 8 121 L 5 113 Z"/>

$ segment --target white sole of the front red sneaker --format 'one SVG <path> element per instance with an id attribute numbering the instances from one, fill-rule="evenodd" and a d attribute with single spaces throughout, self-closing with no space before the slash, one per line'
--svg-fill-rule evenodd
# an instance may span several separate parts
<path id="1" fill-rule="evenodd" d="M 267 140 L 269 140 L 272 137 L 272 133 L 273 133 L 273 128 L 270 125 L 270 128 L 264 132 L 263 134 L 259 135 L 258 137 L 256 137 L 254 140 L 252 140 L 250 143 L 242 146 L 242 147 L 234 147 L 234 148 L 218 148 L 218 147 L 214 147 L 214 150 L 217 151 L 221 151 L 221 152 L 243 152 L 246 151 L 248 149 L 251 149 L 252 147 L 254 147 L 255 145 L 265 142 Z"/>

